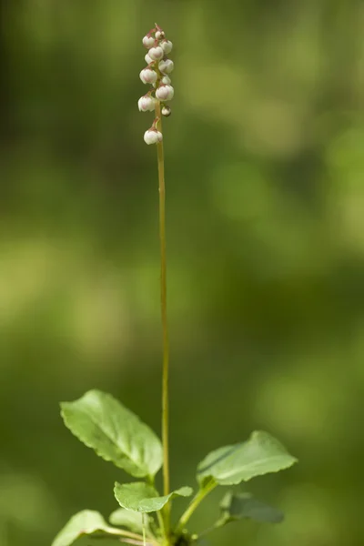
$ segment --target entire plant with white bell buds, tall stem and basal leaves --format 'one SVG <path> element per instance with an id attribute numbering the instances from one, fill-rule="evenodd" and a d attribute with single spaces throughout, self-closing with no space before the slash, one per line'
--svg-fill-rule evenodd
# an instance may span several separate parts
<path id="1" fill-rule="evenodd" d="M 152 126 L 146 131 L 147 144 L 157 144 L 159 182 L 159 234 L 161 255 L 161 318 L 163 332 L 162 372 L 162 441 L 134 412 L 126 409 L 110 394 L 90 390 L 73 402 L 61 403 L 66 427 L 96 455 L 125 470 L 136 481 L 116 481 L 114 495 L 118 508 L 109 523 L 97 511 L 80 511 L 60 531 L 52 546 L 70 546 L 82 535 L 109 538 L 138 546 L 189 546 L 230 521 L 249 518 L 278 522 L 280 511 L 254 499 L 247 491 L 227 490 L 220 503 L 220 516 L 206 531 L 191 532 L 187 523 L 207 494 L 217 487 L 237 486 L 267 474 L 288 469 L 296 462 L 283 445 L 268 432 L 255 431 L 248 440 L 227 445 L 207 454 L 197 465 L 197 492 L 176 524 L 171 523 L 170 509 L 174 499 L 189 497 L 193 490 L 183 486 L 170 490 L 168 456 L 168 373 L 169 343 L 167 329 L 167 258 L 165 221 L 165 173 L 161 116 L 169 116 L 166 105 L 174 96 L 168 74 L 173 61 L 167 58 L 172 42 L 156 25 L 144 38 L 147 67 L 140 79 L 151 87 L 139 98 L 142 112 L 155 111 Z M 163 493 L 157 490 L 155 478 L 163 470 Z"/>

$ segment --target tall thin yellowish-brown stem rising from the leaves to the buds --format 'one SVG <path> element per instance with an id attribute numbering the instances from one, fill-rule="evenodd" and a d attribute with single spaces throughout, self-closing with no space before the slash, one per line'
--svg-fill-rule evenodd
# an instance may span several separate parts
<path id="1" fill-rule="evenodd" d="M 158 130 L 162 132 L 160 103 L 156 104 L 156 115 L 159 119 Z M 159 182 L 159 240 L 160 240 L 160 303 L 163 331 L 163 373 L 162 373 L 162 441 L 163 441 L 163 490 L 169 493 L 169 451 L 168 451 L 168 379 L 169 379 L 169 339 L 167 324 L 167 258 L 166 258 L 166 186 L 165 158 L 163 140 L 157 143 L 158 182 Z M 170 528 L 170 506 L 164 508 L 166 533 Z"/>

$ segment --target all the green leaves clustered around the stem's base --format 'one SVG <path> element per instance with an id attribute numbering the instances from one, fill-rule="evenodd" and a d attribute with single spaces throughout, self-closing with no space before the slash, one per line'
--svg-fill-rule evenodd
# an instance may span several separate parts
<path id="1" fill-rule="evenodd" d="M 160 512 L 157 536 L 166 541 L 164 509 L 174 498 L 188 497 L 193 491 L 190 487 L 182 487 L 167 495 L 159 495 L 154 486 L 154 476 L 162 464 L 162 450 L 154 432 L 120 402 L 98 390 L 90 390 L 75 402 L 63 402 L 61 406 L 66 426 L 79 440 L 93 448 L 103 459 L 114 462 L 117 468 L 146 481 L 124 484 L 116 481 L 114 493 L 122 508 L 110 515 L 110 521 L 128 531 L 109 527 L 98 512 L 83 511 L 67 523 L 53 546 L 68 546 L 81 535 L 96 531 L 112 537 L 123 536 L 124 533 L 124 536 L 136 541 L 142 540 L 145 535 L 156 542 L 149 525 L 152 522 L 155 525 L 155 521 L 149 521 L 142 515 L 149 512 Z M 288 469 L 295 462 L 296 459 L 278 440 L 262 431 L 253 432 L 245 442 L 212 451 L 198 464 L 200 489 L 182 514 L 176 530 L 172 530 L 171 536 L 174 538 L 169 541 L 172 540 L 173 544 L 189 543 L 187 521 L 198 504 L 217 485 L 238 484 L 268 472 Z M 220 510 L 221 516 L 213 529 L 242 519 L 270 522 L 283 519 L 280 511 L 257 501 L 248 493 L 228 492 L 220 504 Z"/>

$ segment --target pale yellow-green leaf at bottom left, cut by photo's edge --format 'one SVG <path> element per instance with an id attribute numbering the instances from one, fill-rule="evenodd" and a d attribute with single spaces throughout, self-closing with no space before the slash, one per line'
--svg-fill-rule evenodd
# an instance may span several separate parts
<path id="1" fill-rule="evenodd" d="M 120 531 L 109 527 L 101 514 L 92 510 L 84 510 L 76 513 L 62 531 L 59 531 L 56 539 L 52 542 L 52 546 L 69 546 L 82 535 L 89 535 L 94 532 L 120 536 Z"/>

